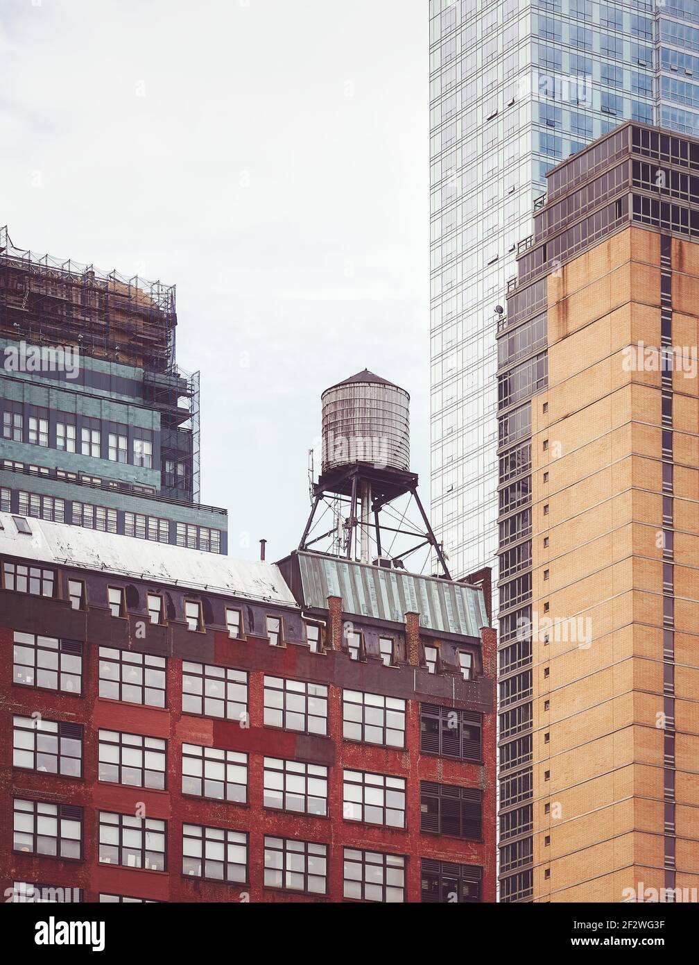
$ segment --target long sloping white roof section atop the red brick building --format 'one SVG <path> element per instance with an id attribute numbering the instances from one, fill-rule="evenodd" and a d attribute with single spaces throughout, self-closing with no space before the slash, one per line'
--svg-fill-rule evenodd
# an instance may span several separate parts
<path id="1" fill-rule="evenodd" d="M 3 557 L 93 569 L 114 573 L 121 579 L 190 587 L 298 609 L 279 566 L 273 563 L 231 560 L 218 553 L 18 516 L 26 519 L 32 531 L 29 536 L 18 532 L 14 515 L 0 512 Z"/>

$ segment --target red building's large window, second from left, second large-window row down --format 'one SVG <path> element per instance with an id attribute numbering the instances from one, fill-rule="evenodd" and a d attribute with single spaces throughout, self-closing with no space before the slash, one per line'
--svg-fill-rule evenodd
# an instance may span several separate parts
<path id="1" fill-rule="evenodd" d="M 165 741 L 140 733 L 99 731 L 98 780 L 165 789 Z"/>

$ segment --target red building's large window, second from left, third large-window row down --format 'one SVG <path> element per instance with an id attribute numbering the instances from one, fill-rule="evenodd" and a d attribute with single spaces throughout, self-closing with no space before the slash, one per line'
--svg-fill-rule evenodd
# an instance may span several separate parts
<path id="1" fill-rule="evenodd" d="M 166 822 L 154 817 L 99 812 L 99 863 L 165 870 Z"/>

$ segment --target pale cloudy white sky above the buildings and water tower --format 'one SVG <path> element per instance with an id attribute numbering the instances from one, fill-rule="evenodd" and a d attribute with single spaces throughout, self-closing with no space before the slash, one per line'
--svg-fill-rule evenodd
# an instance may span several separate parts
<path id="1" fill-rule="evenodd" d="M 429 507 L 427 0 L 2 0 L 0 225 L 176 285 L 202 502 L 295 548 L 320 396 L 411 395 Z"/>

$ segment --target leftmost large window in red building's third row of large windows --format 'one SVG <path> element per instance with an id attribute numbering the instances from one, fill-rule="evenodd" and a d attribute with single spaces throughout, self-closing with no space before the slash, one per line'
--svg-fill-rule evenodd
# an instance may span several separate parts
<path id="1" fill-rule="evenodd" d="M 82 808 L 14 798 L 14 851 L 79 859 L 82 836 Z"/>

